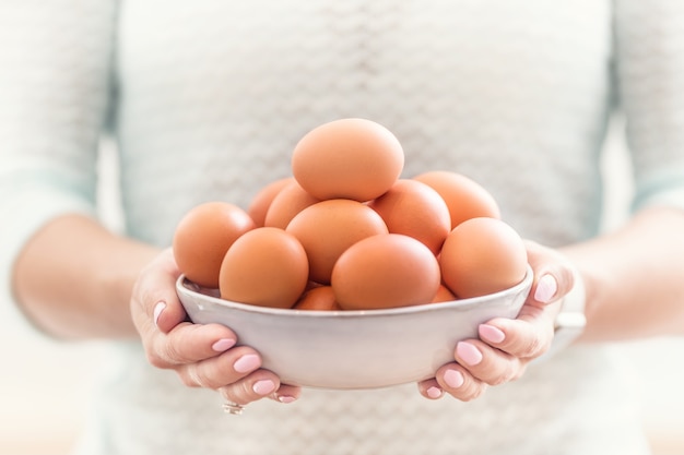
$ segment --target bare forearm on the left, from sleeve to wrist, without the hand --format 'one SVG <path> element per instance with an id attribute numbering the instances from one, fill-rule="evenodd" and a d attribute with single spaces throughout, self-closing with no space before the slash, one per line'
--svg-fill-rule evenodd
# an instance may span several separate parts
<path id="1" fill-rule="evenodd" d="M 129 302 L 158 249 L 116 236 L 83 215 L 44 226 L 22 250 L 13 290 L 26 315 L 62 338 L 135 335 Z"/>

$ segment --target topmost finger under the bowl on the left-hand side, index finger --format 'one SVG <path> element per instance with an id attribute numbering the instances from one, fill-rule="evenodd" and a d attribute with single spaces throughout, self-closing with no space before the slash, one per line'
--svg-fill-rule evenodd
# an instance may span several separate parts
<path id="1" fill-rule="evenodd" d="M 143 338 L 150 363 L 167 369 L 214 358 L 237 343 L 235 333 L 225 325 L 188 322 L 168 334 L 151 331 Z"/>

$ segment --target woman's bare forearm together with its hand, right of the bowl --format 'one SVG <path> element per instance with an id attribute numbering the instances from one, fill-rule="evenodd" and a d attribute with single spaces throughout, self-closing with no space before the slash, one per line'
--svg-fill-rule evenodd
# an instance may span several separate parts
<path id="1" fill-rule="evenodd" d="M 570 276 L 562 273 L 568 271 L 563 258 L 578 270 L 586 287 L 587 326 L 581 342 L 684 333 L 684 212 L 644 208 L 613 234 L 557 252 L 531 247 L 536 279 L 520 315 L 490 321 L 480 327 L 480 339 L 459 343 L 457 362 L 418 384 L 424 396 L 448 393 L 470 400 L 487 385 L 520 378 L 553 343 L 553 320 L 573 285 Z M 538 294 L 540 278 L 547 274 L 555 285 Z M 539 301 L 540 295 L 551 300 Z"/>

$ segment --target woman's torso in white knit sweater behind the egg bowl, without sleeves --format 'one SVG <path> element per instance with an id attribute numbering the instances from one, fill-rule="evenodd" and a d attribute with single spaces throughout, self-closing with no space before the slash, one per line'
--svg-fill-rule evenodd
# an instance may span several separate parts
<path id="1" fill-rule="evenodd" d="M 135 237 L 168 244 L 205 200 L 246 206 L 290 173 L 304 133 L 343 117 L 389 128 L 404 177 L 480 181 L 524 237 L 597 231 L 608 1 L 137 1 L 118 21 L 115 131 Z M 305 390 L 238 418 L 150 367 L 138 345 L 117 350 L 90 455 L 644 453 L 636 433 L 620 442 L 635 420 L 603 349 L 570 349 L 468 404 L 411 384 Z"/>

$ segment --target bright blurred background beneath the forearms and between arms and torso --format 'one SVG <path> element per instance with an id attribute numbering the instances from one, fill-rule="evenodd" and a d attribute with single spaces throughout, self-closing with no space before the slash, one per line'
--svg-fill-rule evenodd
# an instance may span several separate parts
<path id="1" fill-rule="evenodd" d="M 624 219 L 632 192 L 623 128 L 624 122 L 616 118 L 608 142 L 605 229 Z M 101 170 L 102 214 L 109 226 L 120 229 L 116 158 L 107 142 Z M 99 343 L 59 343 L 37 335 L 9 318 L 7 304 L 0 304 L 0 454 L 68 454 L 84 422 L 93 379 L 107 364 L 105 347 Z M 684 454 L 684 338 L 642 340 L 621 345 L 620 349 L 641 400 L 644 427 L 653 453 Z"/>

